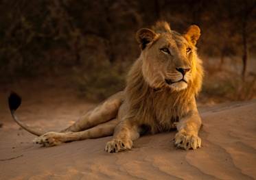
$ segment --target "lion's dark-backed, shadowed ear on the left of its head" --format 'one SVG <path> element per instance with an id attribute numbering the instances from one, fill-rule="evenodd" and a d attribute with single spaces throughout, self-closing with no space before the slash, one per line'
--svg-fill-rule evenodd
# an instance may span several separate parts
<path id="1" fill-rule="evenodd" d="M 142 28 L 137 31 L 136 39 L 139 42 L 141 49 L 145 49 L 147 44 L 152 42 L 156 33 L 148 28 Z"/>

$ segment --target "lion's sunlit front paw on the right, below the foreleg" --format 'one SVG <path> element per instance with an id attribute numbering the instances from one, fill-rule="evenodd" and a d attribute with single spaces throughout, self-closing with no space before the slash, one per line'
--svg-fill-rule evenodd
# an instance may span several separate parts
<path id="1" fill-rule="evenodd" d="M 175 145 L 181 149 L 197 149 L 201 146 L 201 138 L 197 135 L 180 131 L 175 135 Z"/>

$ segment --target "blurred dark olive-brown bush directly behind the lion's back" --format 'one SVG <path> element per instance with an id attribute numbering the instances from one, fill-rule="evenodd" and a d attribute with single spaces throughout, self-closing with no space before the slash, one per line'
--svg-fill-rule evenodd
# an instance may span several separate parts
<path id="1" fill-rule="evenodd" d="M 74 71 L 73 81 L 79 94 L 89 100 L 101 101 L 125 87 L 126 73 L 118 66 L 108 64 L 86 71 L 75 68 Z"/>

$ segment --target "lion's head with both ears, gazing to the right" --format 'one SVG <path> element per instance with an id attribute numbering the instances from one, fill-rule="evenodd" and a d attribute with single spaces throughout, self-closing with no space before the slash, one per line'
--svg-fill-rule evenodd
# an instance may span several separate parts
<path id="1" fill-rule="evenodd" d="M 200 29 L 191 25 L 185 34 L 158 22 L 152 29 L 139 29 L 137 41 L 141 46 L 143 78 L 152 88 L 170 88 L 176 92 L 195 83 L 198 57 L 196 41 Z"/>

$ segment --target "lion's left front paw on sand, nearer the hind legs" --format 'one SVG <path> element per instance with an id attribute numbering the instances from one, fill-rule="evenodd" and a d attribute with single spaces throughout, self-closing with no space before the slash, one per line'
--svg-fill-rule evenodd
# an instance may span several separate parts
<path id="1" fill-rule="evenodd" d="M 106 143 L 105 151 L 108 153 L 117 153 L 132 149 L 132 140 L 111 140 Z"/>

